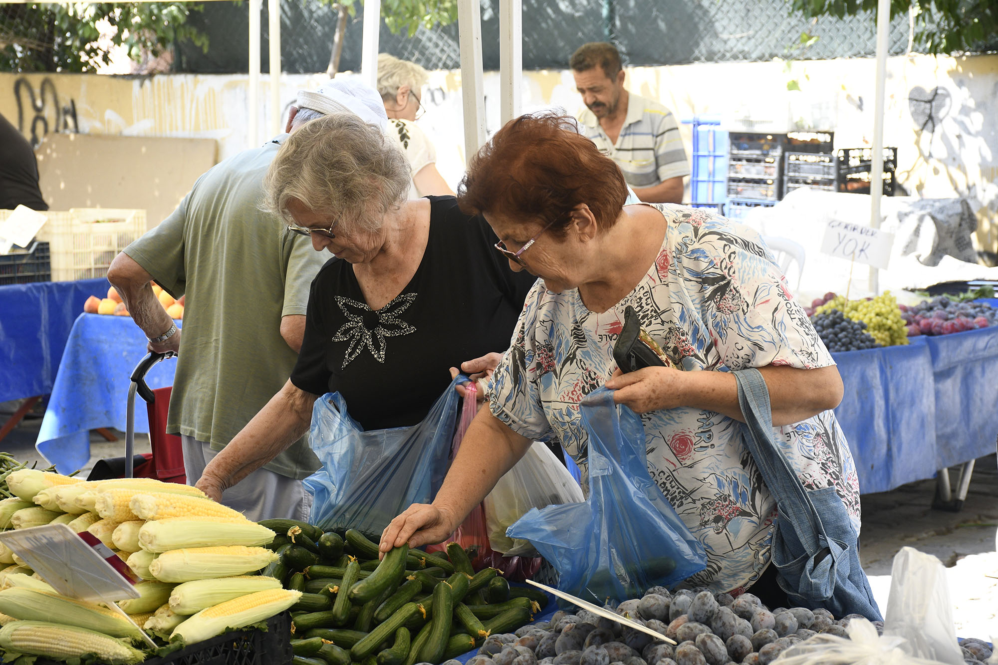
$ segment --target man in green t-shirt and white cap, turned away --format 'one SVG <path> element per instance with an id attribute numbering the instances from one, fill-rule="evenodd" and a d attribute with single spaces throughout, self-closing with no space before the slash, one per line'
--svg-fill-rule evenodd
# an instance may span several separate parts
<path id="1" fill-rule="evenodd" d="M 333 79 L 317 92 L 298 93 L 286 132 L 341 112 L 382 130 L 387 123 L 376 91 Z M 150 350 L 178 353 L 167 432 L 181 435 L 192 484 L 287 380 L 301 345 L 309 286 L 329 258 L 258 208 L 263 177 L 286 136 L 209 170 L 177 210 L 108 271 Z M 183 342 L 151 280 L 175 298 L 186 297 Z M 304 437 L 249 482 L 225 491 L 222 501 L 254 521 L 307 519 L 311 495 L 301 479 L 319 466 Z"/>

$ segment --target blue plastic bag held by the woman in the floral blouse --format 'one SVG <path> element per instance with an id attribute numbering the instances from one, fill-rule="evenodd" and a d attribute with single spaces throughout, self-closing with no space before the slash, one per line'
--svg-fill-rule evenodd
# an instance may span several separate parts
<path id="1" fill-rule="evenodd" d="M 558 569 L 558 588 L 602 604 L 640 597 L 701 571 L 707 552 L 652 480 L 645 428 L 614 393 L 580 404 L 589 434 L 589 499 L 530 510 L 506 530 L 530 540 Z"/>

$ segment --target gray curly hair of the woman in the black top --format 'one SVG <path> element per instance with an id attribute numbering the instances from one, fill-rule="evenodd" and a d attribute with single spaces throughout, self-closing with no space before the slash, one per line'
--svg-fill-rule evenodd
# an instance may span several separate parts
<path id="1" fill-rule="evenodd" d="M 316 213 L 342 216 L 346 229 L 377 231 L 409 191 L 409 164 L 381 131 L 352 113 L 336 113 L 293 132 L 270 163 L 261 208 L 286 223 L 296 199 Z M 369 215 L 371 204 L 381 215 Z"/>

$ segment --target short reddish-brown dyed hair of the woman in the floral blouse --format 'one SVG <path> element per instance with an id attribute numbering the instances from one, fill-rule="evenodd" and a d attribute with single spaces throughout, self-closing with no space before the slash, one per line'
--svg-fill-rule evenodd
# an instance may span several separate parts
<path id="1" fill-rule="evenodd" d="M 461 210 L 554 223 L 564 234 L 572 210 L 586 204 L 601 229 L 612 227 L 627 200 L 624 175 L 576 127 L 553 113 L 506 123 L 472 158 L 457 188 Z"/>

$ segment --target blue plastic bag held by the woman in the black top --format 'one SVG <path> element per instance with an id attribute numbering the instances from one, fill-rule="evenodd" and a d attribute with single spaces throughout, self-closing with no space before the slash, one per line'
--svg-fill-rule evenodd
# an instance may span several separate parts
<path id="1" fill-rule="evenodd" d="M 364 431 L 338 392 L 315 400 L 308 440 L 322 468 L 303 480 L 313 495 L 308 521 L 357 529 L 375 542 L 395 515 L 433 500 L 449 464 L 461 396 L 458 376 L 419 424 Z"/>

